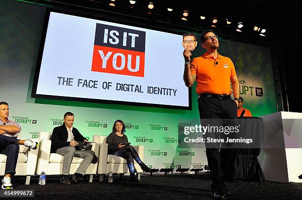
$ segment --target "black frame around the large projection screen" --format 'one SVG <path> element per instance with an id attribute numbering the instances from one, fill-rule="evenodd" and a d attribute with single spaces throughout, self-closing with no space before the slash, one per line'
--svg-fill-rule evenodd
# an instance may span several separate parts
<path id="1" fill-rule="evenodd" d="M 177 31 L 173 32 L 173 31 L 169 30 L 169 32 L 168 32 L 167 30 L 163 31 L 162 29 L 155 29 L 154 27 L 152 27 L 152 28 L 148 27 L 147 28 L 147 27 L 144 27 L 144 26 L 133 25 L 130 22 L 129 23 L 128 22 L 127 23 L 126 22 L 119 22 L 119 21 L 116 21 L 116 20 L 102 19 L 101 17 L 96 17 L 96 16 L 83 14 L 83 13 L 78 13 L 78 12 L 71 12 L 71 11 L 60 10 L 60 9 L 46 8 L 44 23 L 43 23 L 43 29 L 42 29 L 42 35 L 41 35 L 41 39 L 40 39 L 40 46 L 39 46 L 39 50 L 38 50 L 38 58 L 37 58 L 35 75 L 34 75 L 34 82 L 33 82 L 31 98 L 49 99 L 49 100 L 69 100 L 69 101 L 81 101 L 81 102 L 91 102 L 91 103 L 105 103 L 105 104 L 141 106 L 141 107 L 156 107 L 156 108 L 192 110 L 191 87 L 188 87 L 189 106 L 165 105 L 165 104 L 143 103 L 143 102 L 132 102 L 132 101 L 118 101 L 118 100 L 100 100 L 100 99 L 88 99 L 88 98 L 78 98 L 78 97 L 63 97 L 63 96 L 37 94 L 39 73 L 40 73 L 41 62 L 42 62 L 42 57 L 43 57 L 43 50 L 44 50 L 45 39 L 46 39 L 46 34 L 47 34 L 49 16 L 50 16 L 51 12 L 73 15 L 73 16 L 77 16 L 77 17 L 84 17 L 84 18 L 88 18 L 88 19 L 107 21 L 107 22 L 112 22 L 112 23 L 119 23 L 119 24 L 134 26 L 134 27 L 138 27 L 138 28 L 150 29 L 150 30 L 153 30 L 153 31 L 160 31 L 160 32 L 165 32 L 165 33 L 173 33 L 173 34 L 182 35 L 182 34 L 180 34 L 180 32 L 177 32 Z M 181 42 L 180 42 L 180 45 L 181 45 Z M 183 80 L 180 80 L 180 81 L 183 81 Z"/>

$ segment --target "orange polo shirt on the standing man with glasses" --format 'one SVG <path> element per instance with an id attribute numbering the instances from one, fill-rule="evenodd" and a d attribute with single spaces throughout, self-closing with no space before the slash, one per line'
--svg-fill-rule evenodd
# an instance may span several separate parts
<path id="1" fill-rule="evenodd" d="M 206 52 L 192 60 L 190 69 L 191 74 L 196 76 L 198 95 L 203 93 L 232 94 L 230 80 L 237 75 L 234 64 L 229 58 L 218 54 L 214 59 Z"/>

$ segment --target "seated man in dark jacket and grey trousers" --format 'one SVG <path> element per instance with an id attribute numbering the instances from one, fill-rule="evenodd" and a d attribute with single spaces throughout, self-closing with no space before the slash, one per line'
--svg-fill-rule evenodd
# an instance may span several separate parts
<path id="1" fill-rule="evenodd" d="M 73 127 L 75 116 L 71 112 L 67 112 L 64 115 L 64 124 L 59 127 L 55 127 L 51 136 L 51 152 L 64 156 L 63 159 L 63 177 L 60 181 L 61 184 L 77 183 L 77 177 L 79 174 L 84 175 L 88 166 L 93 160 L 94 151 L 78 150 L 78 142 L 88 142 L 88 140 Z M 73 158 L 82 158 L 80 166 L 76 169 L 76 173 L 69 180 L 69 170 L 72 164 Z"/>

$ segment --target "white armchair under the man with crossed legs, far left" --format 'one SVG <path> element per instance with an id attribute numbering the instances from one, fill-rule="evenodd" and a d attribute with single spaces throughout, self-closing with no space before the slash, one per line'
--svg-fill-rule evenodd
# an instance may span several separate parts
<path id="1" fill-rule="evenodd" d="M 19 134 L 20 137 L 20 134 Z M 39 142 L 38 139 L 32 139 L 32 141 Z M 24 145 L 19 145 L 19 155 L 16 166 L 15 175 L 25 175 L 26 185 L 30 184 L 31 175 L 35 175 L 36 165 L 38 158 L 38 149 L 31 149 Z M 0 154 L 0 175 L 5 173 L 6 156 Z"/>

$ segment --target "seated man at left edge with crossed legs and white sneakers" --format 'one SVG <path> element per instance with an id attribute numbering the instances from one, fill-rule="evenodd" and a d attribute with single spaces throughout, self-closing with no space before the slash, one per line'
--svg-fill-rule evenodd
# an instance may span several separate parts
<path id="1" fill-rule="evenodd" d="M 21 127 L 14 121 L 8 119 L 8 103 L 0 102 L 0 154 L 6 155 L 5 172 L 2 179 L 2 189 L 13 189 L 11 177 L 16 173 L 16 166 L 19 153 L 19 145 L 25 145 L 32 149 L 38 148 L 38 143 L 31 140 L 17 139 L 17 133 Z"/>

